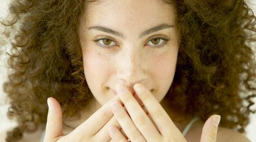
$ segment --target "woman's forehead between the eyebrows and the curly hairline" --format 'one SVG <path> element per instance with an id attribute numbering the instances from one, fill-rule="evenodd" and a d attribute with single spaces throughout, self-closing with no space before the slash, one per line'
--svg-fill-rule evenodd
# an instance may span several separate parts
<path id="1" fill-rule="evenodd" d="M 176 22 L 174 5 L 162 0 L 102 0 L 89 2 L 83 16 L 86 24 L 138 27 Z"/>

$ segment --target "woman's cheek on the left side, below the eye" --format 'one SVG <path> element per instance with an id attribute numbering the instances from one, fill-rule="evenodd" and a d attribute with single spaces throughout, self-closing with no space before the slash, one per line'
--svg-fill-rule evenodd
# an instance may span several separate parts
<path id="1" fill-rule="evenodd" d="M 105 86 L 112 75 L 112 63 L 95 50 L 83 51 L 85 79 L 97 102 L 105 104 L 113 95 Z"/>

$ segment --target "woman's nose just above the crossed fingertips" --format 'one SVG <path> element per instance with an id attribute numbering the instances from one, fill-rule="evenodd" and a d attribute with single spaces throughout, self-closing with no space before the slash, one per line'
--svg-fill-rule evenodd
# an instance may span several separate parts
<path id="1" fill-rule="evenodd" d="M 124 51 L 118 60 L 117 77 L 127 87 L 146 80 L 146 60 L 139 51 Z"/>

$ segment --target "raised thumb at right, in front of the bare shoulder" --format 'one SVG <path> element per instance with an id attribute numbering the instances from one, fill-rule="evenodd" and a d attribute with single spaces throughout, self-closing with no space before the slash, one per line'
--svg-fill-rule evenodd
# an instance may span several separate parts
<path id="1" fill-rule="evenodd" d="M 201 142 L 215 142 L 217 141 L 218 124 L 220 124 L 220 116 L 210 116 L 203 125 Z"/>

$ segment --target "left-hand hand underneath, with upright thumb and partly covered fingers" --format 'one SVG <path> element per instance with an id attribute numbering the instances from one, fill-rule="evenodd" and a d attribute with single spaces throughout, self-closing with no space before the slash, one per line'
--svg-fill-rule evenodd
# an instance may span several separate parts
<path id="1" fill-rule="evenodd" d="M 43 141 L 110 141 L 111 138 L 107 129 L 110 126 L 120 128 L 117 120 L 113 117 L 110 107 L 113 101 L 118 100 L 118 97 L 114 97 L 114 99 L 111 99 L 110 102 L 98 109 L 74 131 L 63 136 L 63 119 L 60 104 L 54 98 L 48 98 L 49 109 L 46 123 L 46 135 Z"/>

